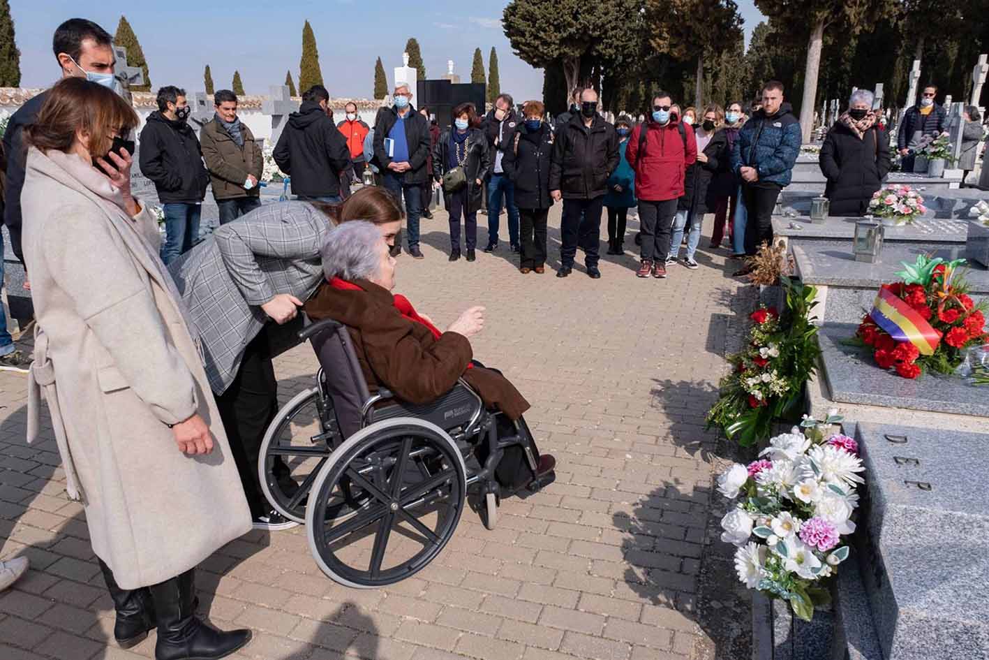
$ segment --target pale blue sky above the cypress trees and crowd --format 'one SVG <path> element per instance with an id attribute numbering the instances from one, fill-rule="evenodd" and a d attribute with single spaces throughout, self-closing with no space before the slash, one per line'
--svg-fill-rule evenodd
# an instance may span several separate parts
<path id="1" fill-rule="evenodd" d="M 753 0 L 738 3 L 748 37 L 761 14 Z M 507 0 L 473 7 L 452 0 L 104 0 L 93 3 L 93 9 L 68 0 L 11 0 L 10 4 L 25 87 L 45 87 L 57 76 L 51 35 L 63 20 L 82 15 L 113 34 L 126 12 L 155 87 L 175 84 L 190 93 L 202 90 L 203 67 L 210 64 L 218 89 L 229 86 L 238 69 L 248 94 L 266 94 L 269 85 L 285 80 L 286 70 L 292 70 L 293 78 L 298 76 L 302 27 L 309 19 L 323 81 L 334 96 L 370 97 L 378 56 L 391 82 L 392 69 L 402 64 L 409 37 L 418 40 L 430 78 L 445 73 L 446 60 L 453 59 L 456 71 L 469 79 L 474 48 L 481 47 L 487 66 L 494 46 L 501 88 L 520 100 L 542 94 L 542 70 L 512 54 L 501 31 L 501 10 Z"/>

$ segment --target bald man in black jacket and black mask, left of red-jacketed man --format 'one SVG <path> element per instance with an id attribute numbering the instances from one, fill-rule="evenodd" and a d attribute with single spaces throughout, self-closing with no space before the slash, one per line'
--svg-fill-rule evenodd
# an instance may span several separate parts
<path id="1" fill-rule="evenodd" d="M 597 269 L 601 209 L 608 177 L 617 166 L 618 134 L 597 114 L 597 92 L 585 89 L 581 114 L 560 128 L 550 165 L 551 194 L 555 200 L 563 199 L 557 277 L 567 277 L 573 271 L 578 244 L 584 247 L 587 275 L 593 279 L 601 276 Z"/>

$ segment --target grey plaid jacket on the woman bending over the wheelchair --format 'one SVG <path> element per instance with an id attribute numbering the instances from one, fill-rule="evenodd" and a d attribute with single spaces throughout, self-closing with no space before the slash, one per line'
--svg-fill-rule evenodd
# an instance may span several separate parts
<path id="1" fill-rule="evenodd" d="M 210 387 L 223 394 L 277 294 L 303 302 L 323 279 L 319 249 L 330 220 L 306 202 L 266 204 L 168 265 L 198 332 Z"/>

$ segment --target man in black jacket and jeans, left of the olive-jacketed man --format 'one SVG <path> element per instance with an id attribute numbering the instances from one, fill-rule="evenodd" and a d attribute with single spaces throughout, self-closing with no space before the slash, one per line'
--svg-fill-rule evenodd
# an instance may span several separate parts
<path id="1" fill-rule="evenodd" d="M 196 132 L 187 123 L 189 103 L 184 89 L 168 85 L 158 90 L 158 109 L 140 132 L 137 149 L 140 173 L 154 182 L 165 212 L 166 264 L 192 249 L 199 240 L 199 220 L 210 174 Z"/>

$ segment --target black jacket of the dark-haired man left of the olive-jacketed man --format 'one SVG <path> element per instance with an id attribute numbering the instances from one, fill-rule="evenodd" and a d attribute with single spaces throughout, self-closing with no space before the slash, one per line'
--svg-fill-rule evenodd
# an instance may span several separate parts
<path id="1" fill-rule="evenodd" d="M 187 122 L 173 122 L 155 110 L 140 132 L 137 154 L 140 173 L 154 182 L 162 204 L 196 204 L 206 197 L 210 173 Z"/>

